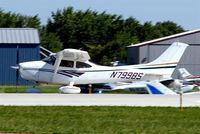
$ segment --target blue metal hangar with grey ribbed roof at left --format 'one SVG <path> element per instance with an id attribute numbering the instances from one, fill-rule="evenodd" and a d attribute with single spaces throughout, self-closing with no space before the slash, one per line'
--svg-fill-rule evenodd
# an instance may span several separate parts
<path id="1" fill-rule="evenodd" d="M 37 29 L 0 28 L 0 85 L 28 84 L 11 66 L 39 59 L 40 39 Z"/>

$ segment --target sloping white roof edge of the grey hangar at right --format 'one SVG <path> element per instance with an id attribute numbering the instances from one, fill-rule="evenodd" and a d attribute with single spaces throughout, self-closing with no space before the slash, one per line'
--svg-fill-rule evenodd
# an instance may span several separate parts
<path id="1" fill-rule="evenodd" d="M 143 46 L 143 45 L 157 43 L 157 42 L 161 42 L 161 41 L 165 41 L 165 40 L 169 40 L 169 39 L 174 39 L 174 38 L 178 38 L 178 37 L 182 37 L 182 36 L 186 36 L 186 35 L 190 35 L 190 34 L 194 34 L 194 33 L 199 33 L 199 32 L 200 32 L 200 29 L 187 31 L 187 32 L 174 34 L 174 35 L 170 35 L 170 36 L 166 36 L 166 37 L 162 37 L 162 38 L 158 38 L 158 39 L 154 39 L 154 40 L 150 40 L 150 41 L 145 41 L 145 42 L 138 43 L 138 44 L 131 44 L 127 47 Z"/>

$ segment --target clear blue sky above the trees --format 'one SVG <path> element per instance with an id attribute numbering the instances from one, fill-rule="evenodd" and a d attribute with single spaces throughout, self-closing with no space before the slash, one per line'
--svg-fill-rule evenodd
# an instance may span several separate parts
<path id="1" fill-rule="evenodd" d="M 0 8 L 23 15 L 38 15 L 47 23 L 52 12 L 72 6 L 74 10 L 133 17 L 144 22 L 173 21 L 185 30 L 200 29 L 200 0 L 0 0 Z"/>

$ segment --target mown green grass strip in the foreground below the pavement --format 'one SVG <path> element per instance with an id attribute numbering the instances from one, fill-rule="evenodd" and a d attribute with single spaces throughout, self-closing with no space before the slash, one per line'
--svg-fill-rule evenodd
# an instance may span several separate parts
<path id="1" fill-rule="evenodd" d="M 0 106 L 1 133 L 192 134 L 200 108 Z"/>

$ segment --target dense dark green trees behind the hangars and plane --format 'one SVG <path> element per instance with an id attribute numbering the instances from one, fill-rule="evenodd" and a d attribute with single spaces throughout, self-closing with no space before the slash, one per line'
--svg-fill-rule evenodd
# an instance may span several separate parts
<path id="1" fill-rule="evenodd" d="M 126 47 L 185 30 L 172 21 L 150 21 L 141 24 L 133 17 L 74 10 L 73 7 L 51 13 L 46 25 L 41 25 L 38 15 L 27 16 L 0 10 L 0 27 L 37 28 L 41 45 L 53 52 L 65 48 L 83 49 L 89 52 L 95 63 L 126 61 Z"/>

